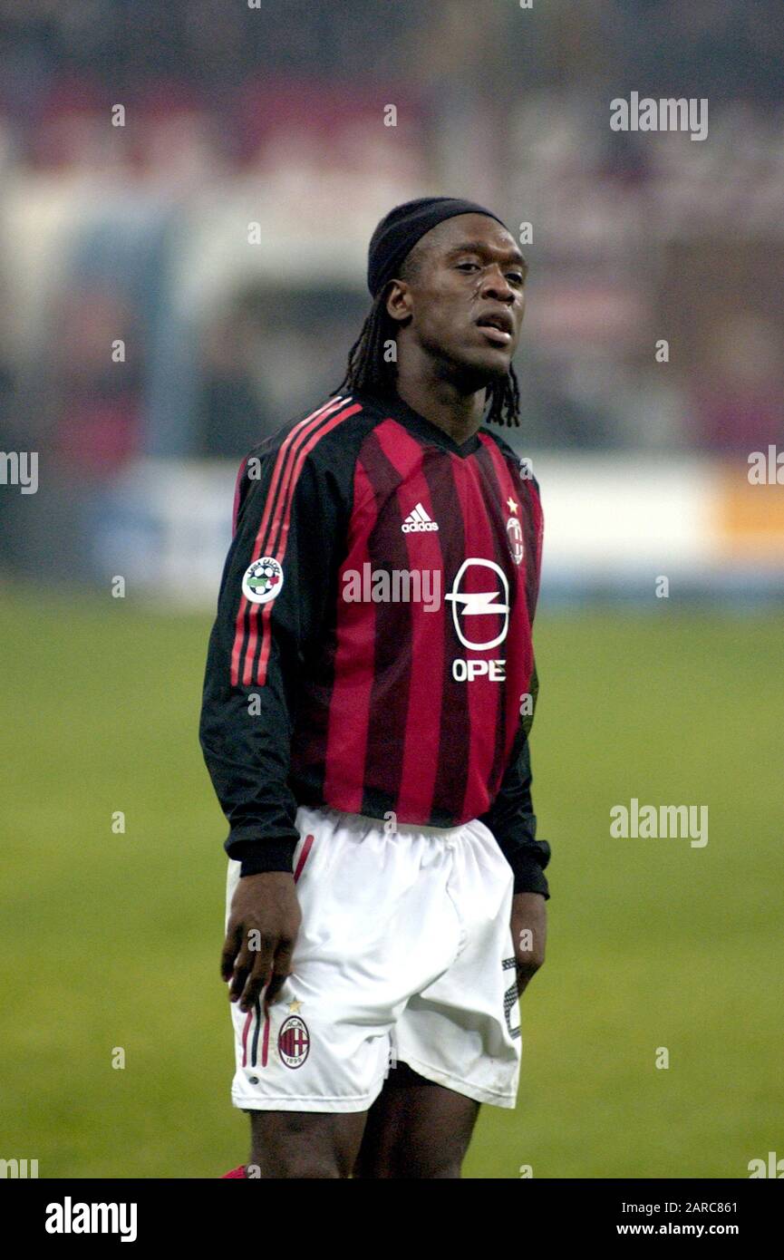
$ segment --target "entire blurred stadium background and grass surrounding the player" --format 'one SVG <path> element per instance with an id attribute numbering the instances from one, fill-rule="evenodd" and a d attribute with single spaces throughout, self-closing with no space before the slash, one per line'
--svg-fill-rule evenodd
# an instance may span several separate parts
<path id="1" fill-rule="evenodd" d="M 0 485 L 0 1158 L 246 1155 L 197 743 L 233 479 L 337 387 L 368 237 L 429 193 L 532 224 L 546 513 L 550 956 L 466 1176 L 784 1155 L 784 486 L 747 475 L 784 449 L 783 63 L 776 0 L 0 0 L 0 451 L 39 455 Z M 611 131 L 633 91 L 706 97 L 707 140 Z M 631 796 L 707 804 L 708 844 L 611 840 Z"/>

